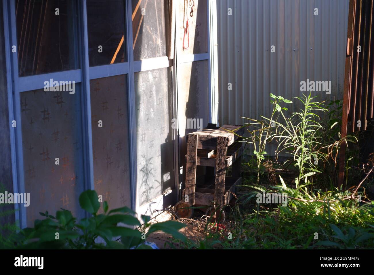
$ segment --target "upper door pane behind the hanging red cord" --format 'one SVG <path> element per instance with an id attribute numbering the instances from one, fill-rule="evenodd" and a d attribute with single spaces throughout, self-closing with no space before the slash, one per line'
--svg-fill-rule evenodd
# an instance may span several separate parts
<path id="1" fill-rule="evenodd" d="M 188 1 L 189 2 L 189 1 Z M 208 39 L 207 39 L 207 5 L 206 0 L 194 0 L 193 16 L 190 16 L 191 7 L 188 7 L 188 32 L 189 35 L 185 37 L 184 44 L 187 48 L 188 40 L 190 41 L 190 46 L 188 49 L 183 49 L 183 11 L 184 11 L 184 1 L 178 1 L 178 11 L 179 11 L 179 28 L 177 27 L 177 43 L 178 51 L 181 51 L 183 55 L 188 54 L 203 54 L 208 52 Z"/>

